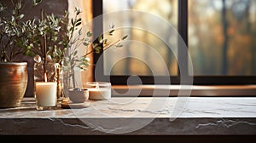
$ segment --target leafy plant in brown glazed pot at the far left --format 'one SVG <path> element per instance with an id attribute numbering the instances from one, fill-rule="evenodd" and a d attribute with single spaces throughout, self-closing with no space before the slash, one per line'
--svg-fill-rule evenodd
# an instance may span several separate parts
<path id="1" fill-rule="evenodd" d="M 18 60 L 27 48 L 22 41 L 26 39 L 26 22 L 21 0 L 11 0 L 8 8 L 0 3 L 0 108 L 20 106 L 26 92 L 27 63 Z M 32 1 L 33 6 L 39 1 Z"/>

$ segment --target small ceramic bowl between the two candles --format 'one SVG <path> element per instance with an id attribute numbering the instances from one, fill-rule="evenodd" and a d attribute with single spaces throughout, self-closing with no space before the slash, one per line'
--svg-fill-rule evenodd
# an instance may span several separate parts
<path id="1" fill-rule="evenodd" d="M 68 96 L 73 103 L 83 103 L 89 99 L 89 91 L 88 89 L 69 89 Z"/>

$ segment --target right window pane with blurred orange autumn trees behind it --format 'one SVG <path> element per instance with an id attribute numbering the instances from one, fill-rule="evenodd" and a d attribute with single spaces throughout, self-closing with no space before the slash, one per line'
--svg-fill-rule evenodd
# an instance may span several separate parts
<path id="1" fill-rule="evenodd" d="M 255 37 L 255 0 L 189 0 L 194 75 L 256 75 Z"/>

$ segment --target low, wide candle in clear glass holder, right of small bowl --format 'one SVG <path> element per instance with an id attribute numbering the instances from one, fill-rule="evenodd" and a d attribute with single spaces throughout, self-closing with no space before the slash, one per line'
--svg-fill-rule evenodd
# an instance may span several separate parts
<path id="1" fill-rule="evenodd" d="M 90 100 L 109 100 L 111 98 L 111 83 L 87 82 L 84 86 L 89 91 Z"/>

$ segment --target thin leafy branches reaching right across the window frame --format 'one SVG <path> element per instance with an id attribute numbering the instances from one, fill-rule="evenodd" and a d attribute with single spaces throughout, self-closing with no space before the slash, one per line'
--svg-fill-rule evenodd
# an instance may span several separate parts
<path id="1" fill-rule="evenodd" d="M 71 20 L 71 26 L 67 28 L 67 53 L 65 54 L 63 65 L 67 67 L 67 70 L 64 74 L 65 77 L 68 79 L 72 79 L 73 87 L 76 87 L 75 76 L 74 72 L 77 70 L 87 70 L 88 66 L 90 66 L 90 58 L 88 57 L 89 54 L 99 54 L 101 51 L 104 52 L 105 50 L 111 47 L 122 47 L 121 42 L 125 40 L 128 36 L 125 35 L 124 37 L 119 38 L 113 43 L 108 41 L 108 37 L 113 36 L 114 25 L 111 26 L 111 29 L 106 32 L 102 33 L 96 40 L 93 39 L 93 33 L 91 31 L 84 31 L 84 27 L 78 28 L 80 26 L 81 19 L 78 18 L 78 15 L 81 11 L 76 8 L 75 9 L 75 18 Z M 76 36 L 74 36 L 76 33 Z M 78 48 L 84 45 L 85 53 L 79 57 L 78 55 Z"/>

